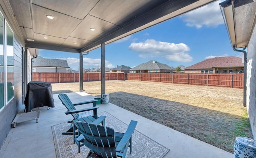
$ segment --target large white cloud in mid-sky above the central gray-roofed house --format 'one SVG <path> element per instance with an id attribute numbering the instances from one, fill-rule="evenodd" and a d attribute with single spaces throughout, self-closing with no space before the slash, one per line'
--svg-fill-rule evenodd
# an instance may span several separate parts
<path id="1" fill-rule="evenodd" d="M 129 49 L 140 53 L 141 58 L 164 57 L 170 61 L 192 61 L 192 57 L 186 53 L 190 48 L 184 43 L 175 44 L 147 39 L 145 42 L 131 43 Z"/>

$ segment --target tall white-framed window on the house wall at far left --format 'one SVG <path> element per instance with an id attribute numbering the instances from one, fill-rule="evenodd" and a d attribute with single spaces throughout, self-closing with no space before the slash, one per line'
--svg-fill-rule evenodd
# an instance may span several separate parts
<path id="1" fill-rule="evenodd" d="M 0 13 L 0 110 L 14 98 L 13 31 Z"/>

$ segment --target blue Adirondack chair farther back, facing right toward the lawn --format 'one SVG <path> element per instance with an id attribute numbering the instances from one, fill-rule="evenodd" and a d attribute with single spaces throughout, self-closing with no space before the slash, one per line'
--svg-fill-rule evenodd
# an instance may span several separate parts
<path id="1" fill-rule="evenodd" d="M 99 107 L 96 106 L 97 100 L 90 100 L 90 101 L 84 101 L 84 102 L 73 104 L 66 94 L 59 94 L 58 97 L 60 101 L 62 101 L 62 104 L 65 105 L 65 107 L 68 109 L 68 111 L 66 111 L 65 114 L 66 115 L 71 114 L 74 117 L 73 120 L 84 118 L 83 119 L 84 121 L 87 121 L 88 123 L 93 123 L 94 121 L 96 121 L 96 119 L 98 119 L 97 109 Z M 78 109 L 78 110 L 75 108 L 76 105 L 84 105 L 88 103 L 93 103 L 93 107 L 88 107 L 88 108 Z M 105 118 L 106 117 L 100 117 L 97 121 L 102 123 L 102 125 L 104 125 Z M 73 122 L 68 121 L 68 123 L 71 123 L 70 129 L 62 133 L 62 135 L 74 135 L 75 137 Z"/>

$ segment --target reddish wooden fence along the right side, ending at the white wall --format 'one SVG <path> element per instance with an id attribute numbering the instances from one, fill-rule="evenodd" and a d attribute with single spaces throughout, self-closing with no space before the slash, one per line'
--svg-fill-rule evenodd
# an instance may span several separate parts
<path id="1" fill-rule="evenodd" d="M 128 80 L 244 88 L 244 74 L 127 74 Z"/>

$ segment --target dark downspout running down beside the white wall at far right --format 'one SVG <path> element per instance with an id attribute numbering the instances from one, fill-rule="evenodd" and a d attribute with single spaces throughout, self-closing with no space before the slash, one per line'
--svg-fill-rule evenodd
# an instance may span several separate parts
<path id="1" fill-rule="evenodd" d="M 244 53 L 244 107 L 246 107 L 247 52 L 243 50 L 238 50 L 235 47 L 233 47 L 233 50 Z"/>

